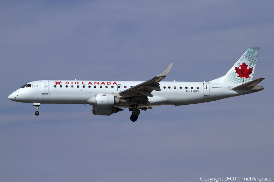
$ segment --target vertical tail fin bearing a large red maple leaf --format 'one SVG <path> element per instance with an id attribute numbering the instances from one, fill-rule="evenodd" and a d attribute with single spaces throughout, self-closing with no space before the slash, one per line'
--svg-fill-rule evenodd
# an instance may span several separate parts
<path id="1" fill-rule="evenodd" d="M 218 83 L 247 83 L 253 78 L 259 47 L 250 47 L 244 55 L 235 63 L 225 76 L 210 82 Z"/>

